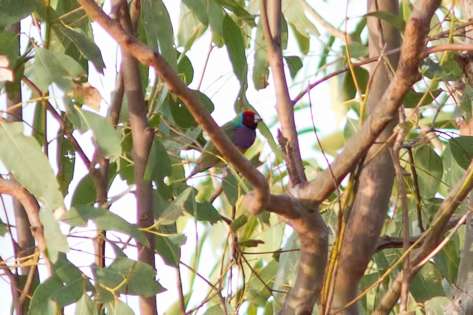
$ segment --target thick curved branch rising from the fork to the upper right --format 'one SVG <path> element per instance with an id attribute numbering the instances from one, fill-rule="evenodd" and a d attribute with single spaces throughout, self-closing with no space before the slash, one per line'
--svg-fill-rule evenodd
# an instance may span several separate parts
<path id="1" fill-rule="evenodd" d="M 348 140 L 345 149 L 332 163 L 331 169 L 326 168 L 310 183 L 298 187 L 301 198 L 315 204 L 326 199 L 371 147 L 377 136 L 396 117 L 397 109 L 402 105 L 406 93 L 420 79 L 418 64 L 427 52 L 425 40 L 429 33 L 430 20 L 440 2 L 440 0 L 416 2 L 415 9 L 406 23 L 398 69 L 379 106 L 368 116 L 358 132 Z"/>

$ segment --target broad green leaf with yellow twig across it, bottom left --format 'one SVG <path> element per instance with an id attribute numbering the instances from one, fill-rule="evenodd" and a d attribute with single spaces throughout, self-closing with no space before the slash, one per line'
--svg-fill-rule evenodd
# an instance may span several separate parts
<path id="1" fill-rule="evenodd" d="M 155 280 L 156 271 L 149 264 L 127 257 L 117 257 L 106 268 L 93 266 L 99 285 L 111 288 L 116 295 L 152 297 L 165 289 Z"/>

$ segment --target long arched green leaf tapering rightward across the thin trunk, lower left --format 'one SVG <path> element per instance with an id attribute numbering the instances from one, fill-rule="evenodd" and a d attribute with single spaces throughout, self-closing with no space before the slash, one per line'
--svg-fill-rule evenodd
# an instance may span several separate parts
<path id="1" fill-rule="evenodd" d="M 136 225 L 131 224 L 120 216 L 105 208 L 94 208 L 92 206 L 77 206 L 77 213 L 84 221 L 92 220 L 99 230 L 113 230 L 126 233 L 148 246 L 148 240 Z"/>

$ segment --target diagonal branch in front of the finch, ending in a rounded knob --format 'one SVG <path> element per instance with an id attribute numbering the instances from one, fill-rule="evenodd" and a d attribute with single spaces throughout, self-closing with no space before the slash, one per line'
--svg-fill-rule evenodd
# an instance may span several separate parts
<path id="1" fill-rule="evenodd" d="M 96 2 L 93 0 L 78 0 L 78 3 L 92 20 L 97 21 L 119 43 L 125 53 L 130 54 L 145 65 L 152 66 L 156 70 L 159 77 L 168 84 L 169 91 L 176 94 L 182 100 L 197 124 L 208 133 L 220 153 L 253 185 L 254 195 L 251 198 L 246 198 L 248 209 L 262 211 L 269 200 L 269 185 L 266 178 L 233 146 L 215 123 L 215 120 L 207 113 L 202 102 L 182 82 L 172 67 L 159 53 L 154 52 L 150 47 L 124 31 L 120 24 L 107 16 Z"/>

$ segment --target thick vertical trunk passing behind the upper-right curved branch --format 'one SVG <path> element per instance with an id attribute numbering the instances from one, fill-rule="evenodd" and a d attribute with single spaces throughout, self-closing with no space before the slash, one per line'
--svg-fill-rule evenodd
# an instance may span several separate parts
<path id="1" fill-rule="evenodd" d="M 398 14 L 398 2 L 392 0 L 368 0 L 368 11 L 385 11 Z M 389 23 L 368 17 L 369 55 L 380 56 L 382 51 L 400 46 L 400 34 Z M 396 68 L 399 55 L 389 57 Z M 373 112 L 392 78 L 390 66 L 382 59 L 370 64 L 370 81 L 367 111 Z M 389 206 L 394 180 L 394 169 L 390 145 L 383 148 L 392 134 L 397 120 L 391 122 L 368 151 L 365 165 L 359 178 L 356 199 L 348 219 L 340 264 L 335 281 L 335 295 L 332 309 L 335 311 L 356 298 L 358 283 L 376 248 Z M 358 306 L 353 304 L 344 310 L 345 314 L 357 314 Z"/>

